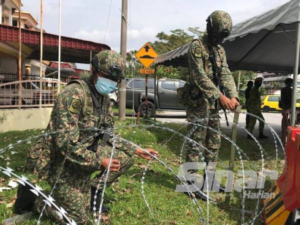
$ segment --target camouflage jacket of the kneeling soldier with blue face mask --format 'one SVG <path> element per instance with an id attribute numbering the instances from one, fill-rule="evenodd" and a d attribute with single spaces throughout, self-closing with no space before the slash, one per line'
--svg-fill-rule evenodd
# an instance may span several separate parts
<path id="1" fill-rule="evenodd" d="M 57 153 L 62 157 L 66 156 L 66 163 L 94 171 L 101 165 L 101 148 L 107 150 L 107 147 L 112 146 L 112 141 L 108 140 L 106 145 L 98 144 L 97 152 L 88 150 L 87 148 L 93 144 L 93 136 L 99 132 L 94 128 L 113 132 L 114 120 L 109 97 L 98 94 L 102 110 L 102 114 L 99 115 L 93 105 L 87 84 L 83 80 L 79 81 L 81 85 L 72 81 L 57 96 L 45 130 L 45 133 L 55 133 L 47 135 L 42 142 L 44 147 L 56 152 L 56 157 Z M 117 139 L 115 147 L 128 153 L 135 150 L 135 147 Z"/>

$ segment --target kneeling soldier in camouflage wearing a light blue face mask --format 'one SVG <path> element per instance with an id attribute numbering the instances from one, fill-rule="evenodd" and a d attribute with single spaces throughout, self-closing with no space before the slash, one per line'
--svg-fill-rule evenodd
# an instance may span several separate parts
<path id="1" fill-rule="evenodd" d="M 133 164 L 134 153 L 144 159 L 152 158 L 150 154 L 157 155 L 153 149 L 146 149 L 149 154 L 121 141 L 118 135 L 112 138 L 114 121 L 108 93 L 124 78 L 122 56 L 113 50 L 103 50 L 93 57 L 91 64 L 88 79 L 70 81 L 57 96 L 45 135 L 29 149 L 26 161 L 26 167 L 46 179 L 51 188 L 55 184 L 51 197 L 77 224 L 89 222 L 97 185 L 96 210 L 100 205 L 105 177 L 102 174 L 108 167 L 112 149 L 107 184 L 128 170 Z M 100 172 L 91 179 L 95 171 Z M 19 186 L 16 211 L 24 213 L 33 206 L 40 213 L 45 202 L 35 198 L 28 186 Z M 65 223 L 48 205 L 44 213 L 59 223 Z"/>

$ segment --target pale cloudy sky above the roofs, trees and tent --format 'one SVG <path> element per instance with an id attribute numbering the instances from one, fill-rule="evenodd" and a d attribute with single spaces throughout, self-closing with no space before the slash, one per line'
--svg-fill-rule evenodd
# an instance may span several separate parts
<path id="1" fill-rule="evenodd" d="M 156 40 L 158 32 L 187 27 L 205 29 L 214 10 L 225 10 L 233 25 L 288 0 L 128 0 L 127 49 Z M 40 20 L 39 0 L 22 0 L 22 10 Z M 121 0 L 61 0 L 61 35 L 120 49 Z M 109 5 L 111 2 L 110 13 Z M 43 0 L 43 29 L 58 34 L 58 0 Z M 107 26 L 106 26 L 107 25 Z M 106 28 L 107 27 L 107 28 Z M 87 69 L 89 65 L 77 64 Z"/>

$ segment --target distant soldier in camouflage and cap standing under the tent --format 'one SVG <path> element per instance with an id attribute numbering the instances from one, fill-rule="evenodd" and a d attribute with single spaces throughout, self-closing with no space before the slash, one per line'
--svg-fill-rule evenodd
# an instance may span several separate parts
<path id="1" fill-rule="evenodd" d="M 260 105 L 261 105 L 261 100 L 260 100 L 260 92 L 259 92 L 259 87 L 262 84 L 262 77 L 256 77 L 254 80 L 254 87 L 250 91 L 250 96 L 248 99 L 248 107 L 250 113 L 258 116 L 262 120 L 264 120 L 263 115 L 260 111 Z M 248 131 L 252 133 L 254 126 L 256 123 L 256 117 L 250 116 L 250 121 L 248 125 Z M 259 135 L 258 138 L 267 138 L 268 136 L 263 134 L 263 128 L 264 128 L 264 122 L 259 120 Z M 248 139 L 252 139 L 252 137 L 248 134 L 247 135 Z"/>

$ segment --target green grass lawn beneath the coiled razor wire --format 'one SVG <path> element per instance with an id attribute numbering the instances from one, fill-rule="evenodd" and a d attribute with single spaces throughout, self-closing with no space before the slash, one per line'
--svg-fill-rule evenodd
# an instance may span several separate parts
<path id="1" fill-rule="evenodd" d="M 125 122 L 116 122 L 119 126 L 118 131 L 122 137 L 133 141 L 142 147 L 155 148 L 159 151 L 159 158 L 168 166 L 177 172 L 179 166 L 180 148 L 183 142 L 182 137 L 159 128 L 130 127 L 131 119 Z M 185 134 L 186 127 L 177 123 L 161 124 L 170 127 Z M 230 135 L 228 129 L 224 133 Z M 0 133 L 0 148 L 14 143 L 19 139 L 25 139 L 29 136 L 42 134 L 42 130 L 26 130 L 12 131 Z M 243 157 L 242 162 L 245 169 L 258 171 L 261 169 L 260 151 L 254 141 L 245 139 L 246 134 L 238 133 L 237 145 L 244 151 L 249 159 Z M 34 143 L 33 140 L 25 144 L 17 145 L 17 147 L 9 149 L 0 155 L 0 165 L 9 166 L 16 170 L 18 174 L 25 174 L 30 179 L 35 177 L 23 171 L 25 150 Z M 271 138 L 261 142 L 264 150 L 268 154 L 264 155 L 264 169 L 273 169 L 275 167 L 275 147 Z M 222 139 L 221 148 L 219 150 L 219 158 L 222 162 L 218 162 L 217 167 L 224 169 L 228 165 L 230 151 L 230 143 Z M 238 160 L 236 153 L 236 161 L 234 161 L 234 171 L 241 168 L 241 162 Z M 183 155 L 183 158 L 185 156 Z M 5 159 L 5 160 L 4 160 Z M 282 169 L 282 154 L 279 153 L 279 162 L 276 169 Z M 281 161 L 280 161 L 281 160 Z M 154 212 L 155 221 L 151 217 L 150 211 L 147 209 L 145 202 L 140 194 L 143 168 L 147 162 L 143 159 L 135 157 L 134 165 L 122 175 L 117 182 L 109 186 L 105 192 L 104 203 L 110 207 L 108 217 L 105 223 L 109 224 L 201 224 L 200 214 L 190 198 L 179 192 L 175 192 L 176 184 L 179 184 L 173 174 L 168 171 L 158 161 L 152 161 L 145 176 L 144 191 L 150 207 Z M 280 173 L 279 173 L 280 174 Z M 236 176 L 236 175 L 235 175 Z M 240 178 L 240 177 L 239 177 Z M 4 180 L 3 180 L 4 179 Z M 11 178 L 0 173 L 0 186 L 7 186 Z M 34 180 L 36 181 L 36 180 Z M 49 187 L 45 181 L 37 181 L 44 189 Z M 266 182 L 265 188 L 271 186 L 270 182 Z M 9 205 L 15 199 L 16 188 L 4 190 L 0 192 L 0 221 L 14 215 L 13 206 Z M 231 195 L 230 206 L 226 206 L 223 193 L 209 193 L 210 196 L 217 199 L 218 204 L 209 204 L 209 224 L 240 224 L 241 223 L 241 193 L 233 192 Z M 203 210 L 206 219 L 206 201 L 197 201 Z M 245 210 L 253 211 L 255 209 L 257 199 L 245 200 Z M 259 199 L 261 202 L 261 199 Z M 8 207 L 7 207 L 8 206 Z M 10 206 L 10 207 L 9 207 Z M 245 222 L 248 222 L 254 216 L 253 212 L 245 213 Z M 23 224 L 36 224 L 37 217 L 34 217 Z M 42 220 L 41 224 L 55 224 L 49 220 Z M 261 224 L 259 217 L 254 224 Z"/>

